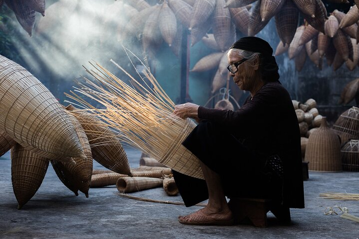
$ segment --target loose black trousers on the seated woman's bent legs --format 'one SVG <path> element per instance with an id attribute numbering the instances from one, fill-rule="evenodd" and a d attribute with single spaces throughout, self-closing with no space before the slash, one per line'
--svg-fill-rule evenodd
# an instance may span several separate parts
<path id="1" fill-rule="evenodd" d="M 199 123 L 182 143 L 221 177 L 227 197 L 274 198 L 281 183 L 264 172 L 264 159 L 210 121 Z M 205 180 L 173 171 L 186 207 L 208 199 Z"/>

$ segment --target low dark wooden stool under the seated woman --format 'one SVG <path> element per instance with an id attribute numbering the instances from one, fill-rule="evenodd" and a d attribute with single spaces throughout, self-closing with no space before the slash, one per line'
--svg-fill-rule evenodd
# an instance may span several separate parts
<path id="1" fill-rule="evenodd" d="M 268 226 L 267 213 L 269 211 L 282 222 L 289 223 L 291 221 L 289 208 L 275 205 L 269 199 L 231 198 L 228 206 L 234 214 L 236 223 L 241 223 L 248 218 L 254 226 L 266 228 Z"/>

